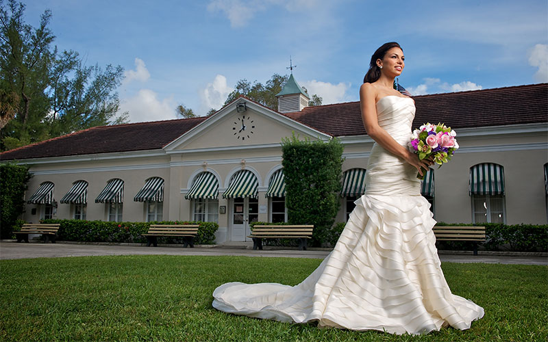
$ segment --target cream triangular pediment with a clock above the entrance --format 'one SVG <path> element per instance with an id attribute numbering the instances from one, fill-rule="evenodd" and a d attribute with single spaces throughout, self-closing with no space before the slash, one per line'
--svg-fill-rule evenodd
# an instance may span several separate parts
<path id="1" fill-rule="evenodd" d="M 243 105 L 245 104 L 245 106 Z M 301 124 L 248 98 L 240 97 L 164 147 L 166 152 L 226 150 L 279 146 L 293 133 L 329 139 L 330 135 Z"/>

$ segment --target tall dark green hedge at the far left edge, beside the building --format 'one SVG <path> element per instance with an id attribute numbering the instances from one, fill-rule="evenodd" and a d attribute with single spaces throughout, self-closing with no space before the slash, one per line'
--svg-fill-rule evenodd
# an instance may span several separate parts
<path id="1" fill-rule="evenodd" d="M 25 209 L 25 191 L 32 175 L 28 166 L 0 164 L 0 239 L 10 239 L 12 227 Z"/>

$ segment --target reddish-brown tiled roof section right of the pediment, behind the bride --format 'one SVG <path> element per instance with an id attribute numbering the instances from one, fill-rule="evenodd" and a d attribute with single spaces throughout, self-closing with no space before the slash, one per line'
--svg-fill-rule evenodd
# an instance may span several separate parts
<path id="1" fill-rule="evenodd" d="M 413 96 L 413 127 L 445 122 L 452 128 L 548 121 L 548 83 Z M 359 102 L 306 107 L 284 114 L 334 136 L 364 135 Z"/>

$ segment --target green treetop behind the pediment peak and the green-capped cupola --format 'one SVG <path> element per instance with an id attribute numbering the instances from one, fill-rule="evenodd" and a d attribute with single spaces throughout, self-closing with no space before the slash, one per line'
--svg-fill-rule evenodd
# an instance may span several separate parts
<path id="1" fill-rule="evenodd" d="M 254 81 L 252 84 L 247 81 L 247 79 L 240 79 L 240 81 L 236 83 L 234 90 L 228 94 L 225 105 L 231 103 L 240 96 L 246 96 L 265 107 L 277 110 L 278 99 L 276 98 L 276 94 L 282 91 L 284 83 L 288 78 L 288 75 L 282 76 L 274 74 L 264 85 L 258 81 Z M 321 101 L 322 98 L 314 94 L 312 95 L 312 100 L 309 102 L 309 105 L 321 105 Z"/>

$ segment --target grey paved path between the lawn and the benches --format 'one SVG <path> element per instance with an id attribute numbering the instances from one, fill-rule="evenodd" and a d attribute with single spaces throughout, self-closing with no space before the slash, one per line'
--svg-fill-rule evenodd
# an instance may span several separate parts
<path id="1" fill-rule="evenodd" d="M 244 257 L 290 257 L 323 259 L 325 250 L 251 250 L 243 248 L 179 248 L 145 246 L 101 246 L 81 244 L 18 244 L 0 242 L 0 259 L 86 257 L 99 255 L 238 255 Z M 505 263 L 548 265 L 547 257 L 473 256 L 471 254 L 440 254 L 449 263 Z"/>

